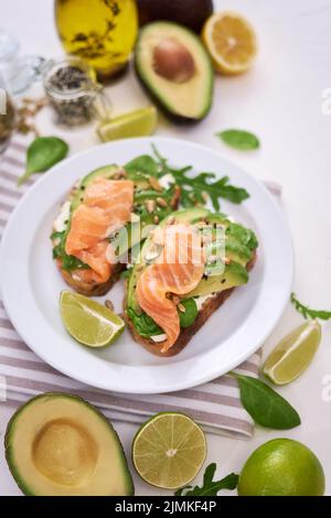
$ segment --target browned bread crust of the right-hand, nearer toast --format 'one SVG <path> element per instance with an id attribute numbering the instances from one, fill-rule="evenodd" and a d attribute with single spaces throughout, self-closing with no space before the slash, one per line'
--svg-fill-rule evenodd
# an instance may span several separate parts
<path id="1" fill-rule="evenodd" d="M 255 252 L 255 255 L 253 256 L 253 258 L 246 266 L 247 271 L 254 268 L 254 265 L 256 263 L 256 259 L 257 259 L 257 253 Z M 126 282 L 126 290 L 127 290 L 127 282 Z M 126 311 L 127 296 L 125 296 L 125 303 L 124 303 L 125 304 L 124 305 L 124 319 L 128 325 L 128 328 L 134 339 L 138 342 L 140 345 L 142 345 L 147 350 L 149 350 L 150 353 L 157 356 L 162 356 L 162 357 L 175 356 L 189 344 L 190 339 L 195 335 L 195 333 L 197 333 L 197 331 L 205 324 L 209 317 L 216 310 L 218 310 L 218 307 L 221 307 L 221 305 L 226 301 L 226 299 L 229 298 L 229 295 L 233 293 L 234 290 L 235 288 L 229 288 L 228 290 L 221 291 L 218 294 L 206 300 L 202 304 L 201 310 L 197 313 L 197 317 L 195 319 L 193 324 L 190 325 L 190 327 L 185 327 L 184 330 L 181 331 L 178 341 L 166 353 L 161 353 L 162 343 L 160 344 L 154 343 L 151 339 L 143 338 L 137 333 L 132 322 L 127 315 L 127 311 Z"/>

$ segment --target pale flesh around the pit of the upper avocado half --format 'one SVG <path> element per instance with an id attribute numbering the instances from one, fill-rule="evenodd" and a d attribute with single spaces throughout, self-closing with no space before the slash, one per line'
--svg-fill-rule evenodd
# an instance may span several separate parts
<path id="1" fill-rule="evenodd" d="M 157 74 L 153 51 L 164 39 L 173 39 L 194 58 L 195 73 L 184 83 L 174 83 Z M 203 119 L 213 98 L 214 72 L 200 39 L 188 29 L 170 22 L 154 22 L 140 31 L 136 46 L 137 74 L 166 115 L 178 119 Z"/>

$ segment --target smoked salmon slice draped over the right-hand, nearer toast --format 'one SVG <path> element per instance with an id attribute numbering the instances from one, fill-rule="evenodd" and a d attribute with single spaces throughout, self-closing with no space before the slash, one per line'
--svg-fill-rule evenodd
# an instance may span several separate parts
<path id="1" fill-rule="evenodd" d="M 172 347 L 180 334 L 177 305 L 169 294 L 189 293 L 202 279 L 205 257 L 201 239 L 197 229 L 191 225 L 166 227 L 161 255 L 138 280 L 138 304 L 167 335 L 162 353 Z"/>

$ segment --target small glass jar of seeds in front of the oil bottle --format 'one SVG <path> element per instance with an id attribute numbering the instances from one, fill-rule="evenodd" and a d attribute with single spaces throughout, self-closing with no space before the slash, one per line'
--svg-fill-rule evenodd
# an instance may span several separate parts
<path id="1" fill-rule="evenodd" d="M 78 57 L 47 62 L 43 85 L 58 125 L 72 128 L 94 118 L 109 118 L 108 97 L 98 85 L 94 69 Z"/>

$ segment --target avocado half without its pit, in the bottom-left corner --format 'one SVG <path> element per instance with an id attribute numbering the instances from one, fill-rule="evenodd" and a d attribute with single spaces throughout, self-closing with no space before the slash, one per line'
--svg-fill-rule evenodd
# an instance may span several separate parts
<path id="1" fill-rule="evenodd" d="M 6 458 L 28 496 L 127 496 L 134 483 L 107 419 L 76 396 L 47 392 L 11 418 Z"/>

